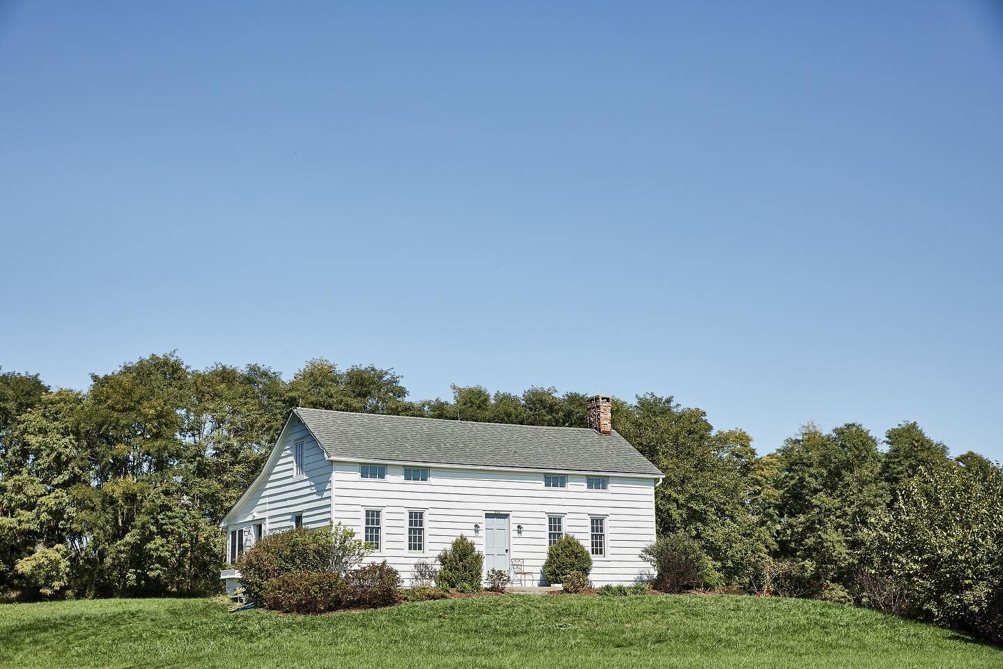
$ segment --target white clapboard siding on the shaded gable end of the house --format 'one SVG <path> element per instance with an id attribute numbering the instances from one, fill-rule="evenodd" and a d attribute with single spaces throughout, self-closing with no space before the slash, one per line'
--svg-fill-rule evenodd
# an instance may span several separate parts
<path id="1" fill-rule="evenodd" d="M 293 445 L 303 439 L 303 475 L 295 475 Z M 296 416 L 276 444 L 278 452 L 270 457 L 264 482 L 230 515 L 227 530 L 265 524 L 265 533 L 273 534 L 293 527 L 293 518 L 303 515 L 303 525 L 319 528 L 331 522 L 331 461 Z M 252 533 L 245 533 L 250 547 Z"/>

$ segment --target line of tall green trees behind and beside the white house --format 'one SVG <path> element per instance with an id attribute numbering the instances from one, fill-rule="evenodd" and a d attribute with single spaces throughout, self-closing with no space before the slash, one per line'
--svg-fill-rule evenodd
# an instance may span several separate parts
<path id="1" fill-rule="evenodd" d="M 390 369 L 322 359 L 287 381 L 262 365 L 199 370 L 150 355 L 92 375 L 86 391 L 0 373 L 0 593 L 217 592 L 219 522 L 295 406 L 586 426 L 584 393 L 452 390 L 411 401 Z M 709 587 L 856 602 L 999 638 L 985 631 L 1003 623 L 997 463 L 950 457 L 916 422 L 881 437 L 809 423 L 759 455 L 745 431 L 652 393 L 614 398 L 613 426 L 665 473 L 657 531 L 699 544 Z"/>

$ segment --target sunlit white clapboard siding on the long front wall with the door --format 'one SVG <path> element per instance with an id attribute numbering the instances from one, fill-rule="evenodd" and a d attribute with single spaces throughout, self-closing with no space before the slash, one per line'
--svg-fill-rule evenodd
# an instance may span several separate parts
<path id="1" fill-rule="evenodd" d="M 484 550 L 484 514 L 510 514 L 512 557 L 523 558 L 539 580 L 547 558 L 547 517 L 563 515 L 565 533 L 586 547 L 590 517 L 607 518 L 607 556 L 594 558 L 596 585 L 633 583 L 650 577 L 640 559 L 655 539 L 654 479 L 609 476 L 606 490 L 588 489 L 586 476 L 568 474 L 566 488 L 544 486 L 543 473 L 429 467 L 427 481 L 405 481 L 403 465 L 386 465 L 386 478 L 362 478 L 357 462 L 335 462 L 335 521 L 362 536 L 364 511 L 383 512 L 382 548 L 371 560 L 386 560 L 410 580 L 417 560 L 435 556 L 460 534 Z M 425 511 L 425 551 L 406 550 L 407 511 Z M 480 527 L 474 532 L 474 525 Z M 519 535 L 517 526 L 523 526 Z"/>

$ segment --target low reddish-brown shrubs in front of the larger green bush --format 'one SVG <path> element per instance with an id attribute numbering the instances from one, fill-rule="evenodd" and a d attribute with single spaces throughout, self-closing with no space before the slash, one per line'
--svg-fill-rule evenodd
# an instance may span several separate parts
<path id="1" fill-rule="evenodd" d="M 267 608 L 286 613 L 371 609 L 398 601 L 400 576 L 386 561 L 347 572 L 295 572 L 270 579 L 262 597 Z"/>

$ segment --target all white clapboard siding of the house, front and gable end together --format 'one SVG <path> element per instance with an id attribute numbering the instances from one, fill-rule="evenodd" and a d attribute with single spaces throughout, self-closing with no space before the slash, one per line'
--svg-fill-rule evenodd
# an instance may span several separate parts
<path id="1" fill-rule="evenodd" d="M 303 439 L 304 473 L 296 476 L 294 443 Z M 591 580 L 596 585 L 633 583 L 650 578 L 651 568 L 640 559 L 641 550 L 655 539 L 655 478 L 609 474 L 606 490 L 589 489 L 586 475 L 568 472 L 566 488 L 544 486 L 543 472 L 504 471 L 422 464 L 427 481 L 405 481 L 403 465 L 384 463 L 386 478 L 362 478 L 361 462 L 334 461 L 297 415 L 292 415 L 270 454 L 265 471 L 228 515 L 227 531 L 263 523 L 266 534 L 289 530 L 297 514 L 303 525 L 317 528 L 334 521 L 363 537 L 364 510 L 382 512 L 382 547 L 372 561 L 386 560 L 405 583 L 414 563 L 435 556 L 461 534 L 484 552 L 484 515 L 510 515 L 511 557 L 526 561 L 537 582 L 547 558 L 547 517 L 564 517 L 565 533 L 590 546 L 590 517 L 606 520 L 607 555 L 594 557 Z M 333 474 L 333 476 L 332 476 Z M 425 550 L 407 551 L 407 512 L 425 512 Z M 474 531 L 474 525 L 479 531 Z M 523 526 L 522 534 L 517 532 Z M 245 533 L 245 546 L 252 543 Z M 229 542 L 228 542 L 229 546 Z M 228 589 L 236 584 L 228 581 Z"/>

